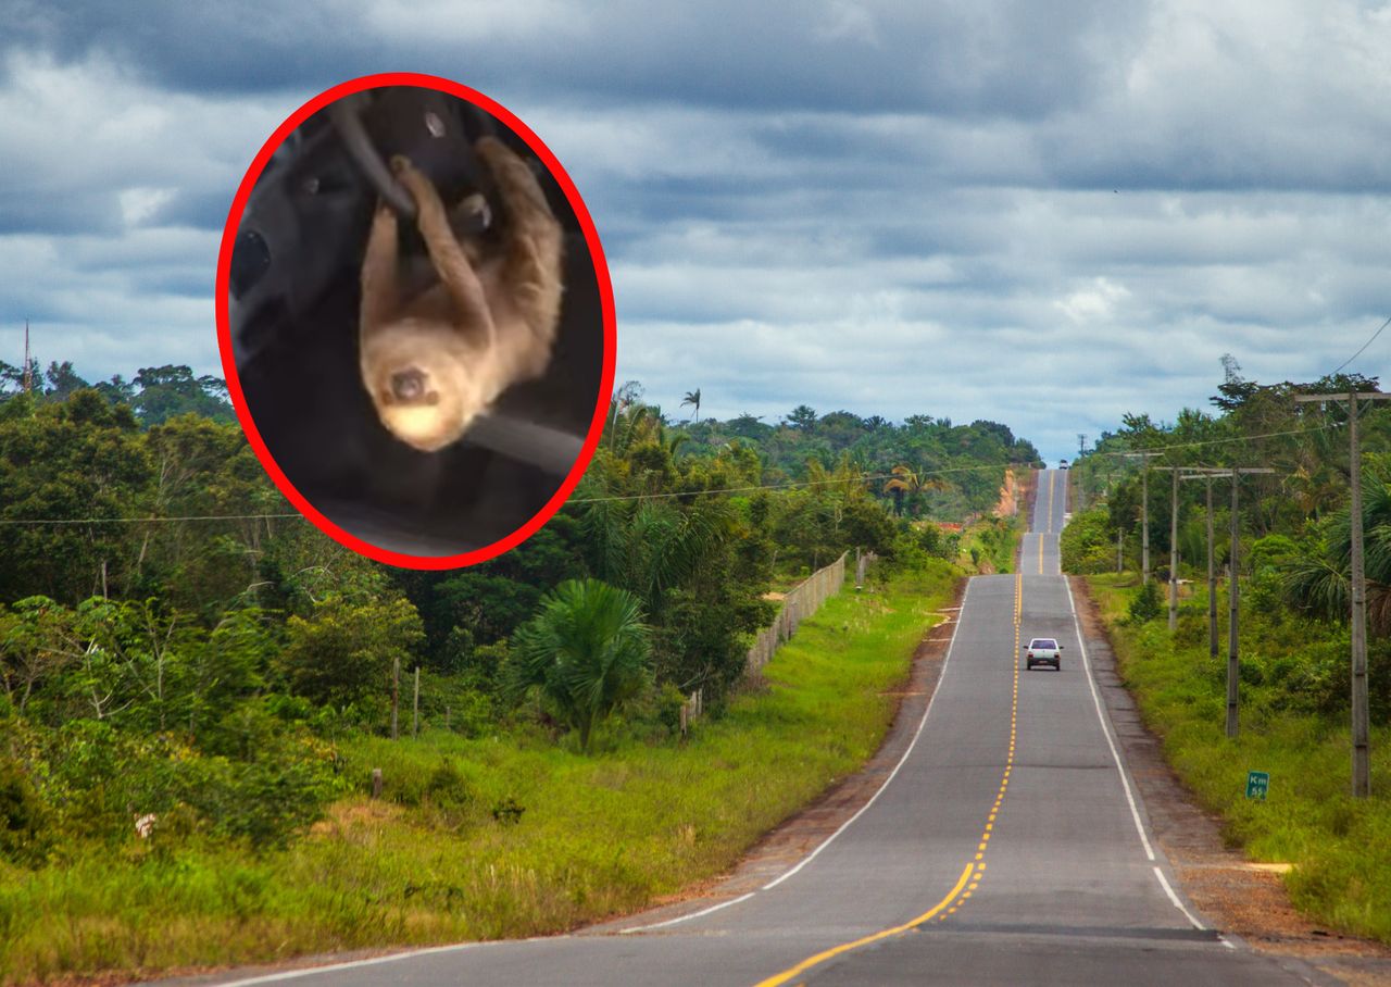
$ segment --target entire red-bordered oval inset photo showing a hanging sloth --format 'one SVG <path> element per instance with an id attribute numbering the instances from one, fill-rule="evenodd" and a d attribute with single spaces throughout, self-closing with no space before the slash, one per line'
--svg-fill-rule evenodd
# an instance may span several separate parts
<path id="1" fill-rule="evenodd" d="M 296 508 L 394 565 L 534 533 L 579 483 L 613 387 L 613 294 L 569 175 L 463 85 L 388 74 L 296 110 L 223 234 L 228 390 Z"/>

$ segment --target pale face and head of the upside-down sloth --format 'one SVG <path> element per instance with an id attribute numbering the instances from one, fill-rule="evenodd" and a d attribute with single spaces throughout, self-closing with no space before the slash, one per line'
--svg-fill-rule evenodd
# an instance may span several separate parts
<path id="1" fill-rule="evenodd" d="M 483 400 L 462 359 L 438 334 L 403 322 L 376 334 L 362 352 L 363 380 L 377 416 L 396 439 L 435 452 L 456 441 Z"/>

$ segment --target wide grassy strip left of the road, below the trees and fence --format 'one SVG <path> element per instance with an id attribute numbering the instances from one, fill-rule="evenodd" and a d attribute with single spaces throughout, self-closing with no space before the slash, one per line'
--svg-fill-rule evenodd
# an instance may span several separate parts
<path id="1" fill-rule="evenodd" d="M 583 757 L 536 735 L 362 738 L 345 770 L 366 788 L 381 767 L 387 798 L 334 805 L 288 849 L 132 838 L 36 871 L 0 864 L 0 981 L 555 933 L 712 878 L 878 749 L 883 693 L 954 578 L 942 564 L 833 597 L 766 688 L 686 745 L 613 729 Z"/>

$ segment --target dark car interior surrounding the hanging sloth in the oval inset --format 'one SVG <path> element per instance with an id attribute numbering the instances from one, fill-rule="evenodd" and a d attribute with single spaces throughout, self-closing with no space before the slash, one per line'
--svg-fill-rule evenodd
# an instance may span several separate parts
<path id="1" fill-rule="evenodd" d="M 383 161 L 406 155 L 447 202 L 487 196 L 470 150 L 485 134 L 533 164 L 566 231 L 559 337 L 544 379 L 508 390 L 453 445 L 419 452 L 385 430 L 360 383 L 362 253 L 378 196 L 396 202 Z M 413 206 L 409 196 L 396 205 Z M 430 271 L 419 234 L 402 228 L 408 277 Z M 593 260 L 574 210 L 526 142 L 462 99 L 391 86 L 306 120 L 248 199 L 230 295 L 236 376 L 256 430 L 310 504 L 371 544 L 433 557 L 491 544 L 536 515 L 580 452 L 604 365 Z"/>

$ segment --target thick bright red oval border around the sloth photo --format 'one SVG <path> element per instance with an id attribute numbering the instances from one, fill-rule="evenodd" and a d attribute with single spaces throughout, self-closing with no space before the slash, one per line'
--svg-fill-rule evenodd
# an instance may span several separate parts
<path id="1" fill-rule="evenodd" d="M 483 548 L 474 548 L 473 551 L 465 551 L 458 555 L 408 555 L 405 553 L 389 551 L 351 535 L 320 514 L 319 510 L 316 510 L 314 505 L 295 489 L 295 484 L 289 482 L 289 477 L 285 476 L 280 465 L 271 457 L 270 450 L 266 448 L 266 443 L 262 439 L 260 432 L 256 429 L 256 422 L 252 419 L 250 409 L 246 406 L 246 398 L 242 394 L 241 379 L 236 376 L 236 362 L 232 356 L 231 345 L 232 335 L 231 322 L 228 319 L 228 283 L 232 262 L 232 245 L 236 239 L 236 230 L 241 226 L 242 213 L 246 210 L 246 199 L 250 196 L 252 188 L 255 188 L 262 171 L 264 171 L 266 163 L 296 127 L 334 100 L 351 96 L 355 92 L 362 92 L 363 89 L 401 85 L 442 90 L 487 110 L 504 124 L 510 127 L 517 136 L 526 141 L 531 152 L 545 163 L 545 167 L 549 168 L 556 182 L 559 182 L 561 189 L 565 192 L 565 198 L 569 200 L 570 207 L 579 217 L 580 228 L 584 232 L 584 244 L 594 260 L 594 276 L 598 281 L 600 305 L 604 320 L 604 370 L 600 377 L 598 401 L 594 405 L 594 418 L 590 422 L 590 430 L 584 439 L 584 447 L 580 450 L 580 458 L 574 461 L 574 465 L 570 468 L 565 482 L 561 483 L 561 487 L 555 491 L 555 496 L 551 497 L 551 500 L 547 501 L 547 504 L 530 521 L 492 544 L 484 546 Z M 319 96 L 314 96 L 295 110 L 295 113 L 292 113 L 285 123 L 282 123 L 275 132 L 270 135 L 260 152 L 257 152 L 256 157 L 252 160 L 250 167 L 246 170 L 246 175 L 242 178 L 242 184 L 236 188 L 236 198 L 232 199 L 232 207 L 227 216 L 227 226 L 223 230 L 223 245 L 217 256 L 216 291 L 217 345 L 221 351 L 223 372 L 227 376 L 227 391 L 232 398 L 232 406 L 236 409 L 236 418 L 242 425 L 242 430 L 246 433 L 246 440 L 252 444 L 252 450 L 256 452 L 256 458 L 260 459 L 262 466 L 267 473 L 270 473 L 271 480 L 274 480 L 280 491 L 285 494 L 289 503 L 294 504 L 299 512 L 305 515 L 305 518 L 312 521 L 324 535 L 334 539 L 339 544 L 352 548 L 360 555 L 366 555 L 367 558 L 378 562 L 387 562 L 388 565 L 409 569 L 455 569 L 495 558 L 536 535 L 541 526 L 561 510 L 570 493 L 573 493 L 574 487 L 579 484 L 584 471 L 588 469 L 590 461 L 594 458 L 594 451 L 598 448 L 600 436 L 604 432 L 604 419 L 613 393 L 613 363 L 618 349 L 616 317 L 613 312 L 613 285 L 609 281 L 608 262 L 604 258 L 604 246 L 600 244 L 598 231 L 595 230 L 594 220 L 590 217 L 590 212 L 584 206 L 584 199 L 580 198 L 580 192 L 574 188 L 574 182 L 570 180 L 569 173 L 566 173 L 566 170 L 561 166 L 561 161 L 556 160 L 555 155 L 551 153 L 551 149 L 545 146 L 545 142 L 541 141 L 541 138 L 537 136 L 530 127 L 515 117 L 506 107 L 466 85 L 437 75 L 423 75 L 419 72 L 378 72 L 376 75 L 363 75 L 356 79 L 341 82 L 339 85 L 321 92 Z"/>

